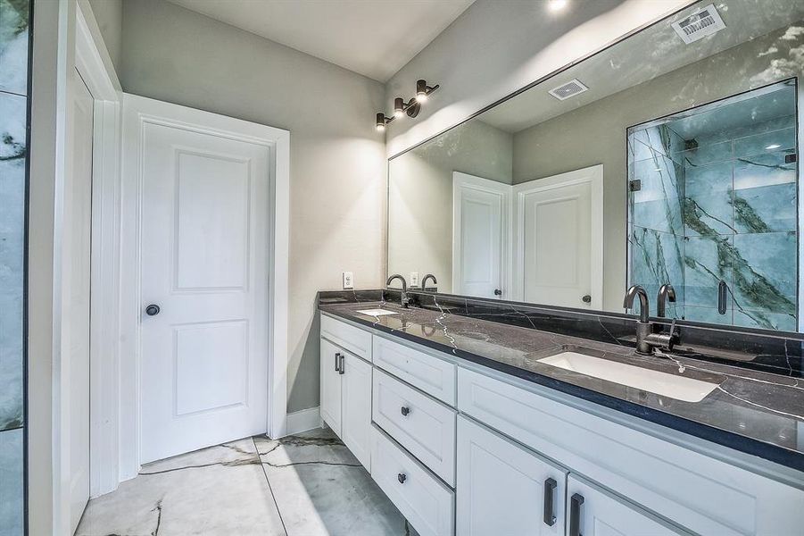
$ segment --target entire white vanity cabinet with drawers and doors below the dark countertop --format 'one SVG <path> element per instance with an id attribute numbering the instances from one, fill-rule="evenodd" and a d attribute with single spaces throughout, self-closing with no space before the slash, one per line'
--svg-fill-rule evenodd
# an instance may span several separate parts
<path id="1" fill-rule="evenodd" d="M 804 534 L 800 473 L 393 335 L 321 326 L 321 416 L 422 536 Z"/>

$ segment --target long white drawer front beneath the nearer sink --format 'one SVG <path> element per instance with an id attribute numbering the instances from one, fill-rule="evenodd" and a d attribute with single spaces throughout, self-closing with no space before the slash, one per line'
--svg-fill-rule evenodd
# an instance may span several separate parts
<path id="1" fill-rule="evenodd" d="M 458 384 L 461 412 L 692 532 L 800 534 L 802 490 L 484 374 Z"/>

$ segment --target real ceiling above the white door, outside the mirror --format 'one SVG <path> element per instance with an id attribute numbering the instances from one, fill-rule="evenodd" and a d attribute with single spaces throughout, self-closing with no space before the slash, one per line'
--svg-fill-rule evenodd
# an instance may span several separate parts
<path id="1" fill-rule="evenodd" d="M 386 82 L 475 0 L 169 0 Z"/>

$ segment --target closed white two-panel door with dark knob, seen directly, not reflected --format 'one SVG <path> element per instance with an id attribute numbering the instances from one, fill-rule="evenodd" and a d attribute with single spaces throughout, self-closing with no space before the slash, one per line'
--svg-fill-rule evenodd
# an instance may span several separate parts
<path id="1" fill-rule="evenodd" d="M 142 463 L 264 433 L 268 415 L 272 152 L 158 105 L 123 146 L 140 147 Z"/>

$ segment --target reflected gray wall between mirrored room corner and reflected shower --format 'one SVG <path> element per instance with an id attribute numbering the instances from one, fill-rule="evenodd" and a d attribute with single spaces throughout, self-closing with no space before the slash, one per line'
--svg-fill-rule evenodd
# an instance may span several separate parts
<path id="1" fill-rule="evenodd" d="M 753 39 L 514 135 L 514 184 L 603 164 L 604 309 L 622 311 L 626 284 L 626 128 L 804 73 L 804 63 L 790 54 L 801 50 L 804 36 L 784 33 Z"/>

